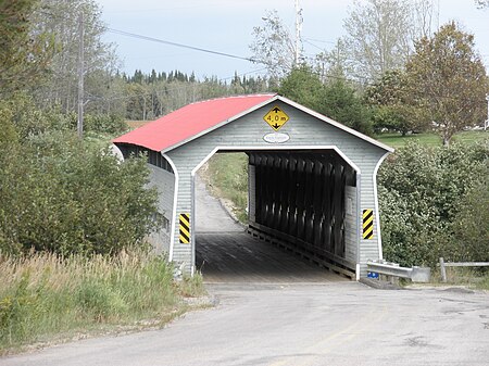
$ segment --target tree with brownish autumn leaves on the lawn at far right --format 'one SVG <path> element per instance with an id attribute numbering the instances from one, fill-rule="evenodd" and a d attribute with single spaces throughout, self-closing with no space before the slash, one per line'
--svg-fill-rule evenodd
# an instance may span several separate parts
<path id="1" fill-rule="evenodd" d="M 443 144 L 485 119 L 486 70 L 474 49 L 474 36 L 454 22 L 416 42 L 406 73 L 413 101 L 429 114 Z"/>

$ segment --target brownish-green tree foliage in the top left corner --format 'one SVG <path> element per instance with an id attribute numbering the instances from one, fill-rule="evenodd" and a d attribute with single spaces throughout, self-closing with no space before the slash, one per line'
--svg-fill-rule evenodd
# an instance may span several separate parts
<path id="1" fill-rule="evenodd" d="M 45 75 L 52 42 L 45 33 L 32 33 L 36 0 L 0 1 L 0 97 L 33 84 Z"/>

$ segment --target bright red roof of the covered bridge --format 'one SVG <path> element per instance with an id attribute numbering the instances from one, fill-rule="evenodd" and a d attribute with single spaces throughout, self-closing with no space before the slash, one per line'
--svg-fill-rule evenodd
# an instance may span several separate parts
<path id="1" fill-rule="evenodd" d="M 117 137 L 114 143 L 131 143 L 153 151 L 179 146 L 200 134 L 253 108 L 276 94 L 252 94 L 212 99 L 188 104 L 159 119 Z"/>

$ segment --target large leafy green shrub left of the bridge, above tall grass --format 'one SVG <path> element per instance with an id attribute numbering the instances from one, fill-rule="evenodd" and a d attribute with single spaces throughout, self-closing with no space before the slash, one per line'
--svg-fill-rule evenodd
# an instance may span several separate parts
<path id="1" fill-rule="evenodd" d="M 109 149 L 58 131 L 1 150 L 0 163 L 4 252 L 117 253 L 142 244 L 159 224 L 141 159 L 120 162 Z"/>

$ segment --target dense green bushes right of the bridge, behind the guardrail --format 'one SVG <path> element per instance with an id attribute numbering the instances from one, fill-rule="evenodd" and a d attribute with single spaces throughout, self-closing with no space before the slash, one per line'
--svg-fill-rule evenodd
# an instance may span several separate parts
<path id="1" fill-rule="evenodd" d="M 488 141 L 409 143 L 388 159 L 378 177 L 385 257 L 405 266 L 487 257 L 488 161 Z"/>

